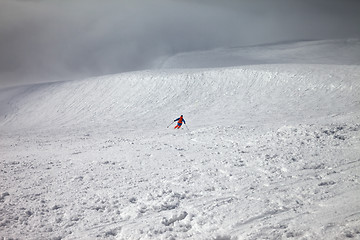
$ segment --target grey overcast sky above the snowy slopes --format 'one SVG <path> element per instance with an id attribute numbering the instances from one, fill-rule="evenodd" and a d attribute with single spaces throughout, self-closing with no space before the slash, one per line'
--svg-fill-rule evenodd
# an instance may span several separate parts
<path id="1" fill-rule="evenodd" d="M 359 0 L 0 0 L 0 88 L 142 70 L 179 52 L 360 38 Z"/>

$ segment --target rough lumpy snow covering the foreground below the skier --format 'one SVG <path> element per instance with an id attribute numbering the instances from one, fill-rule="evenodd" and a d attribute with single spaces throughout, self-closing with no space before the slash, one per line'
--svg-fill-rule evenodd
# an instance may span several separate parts
<path id="1" fill-rule="evenodd" d="M 360 125 L 103 130 L 2 141 L 3 237 L 359 238 Z"/>

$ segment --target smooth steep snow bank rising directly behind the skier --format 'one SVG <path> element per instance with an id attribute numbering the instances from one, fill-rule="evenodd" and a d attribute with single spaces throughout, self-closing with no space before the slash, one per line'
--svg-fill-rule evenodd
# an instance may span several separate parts
<path id="1" fill-rule="evenodd" d="M 358 112 L 358 66 L 264 65 L 192 71 L 136 72 L 28 87 L 0 116 L 3 129 L 66 127 L 137 119 L 164 126 L 163 113 L 194 122 L 266 118 L 286 121 Z M 126 123 L 126 120 L 128 123 Z M 130 123 L 129 123 L 130 121 Z"/>

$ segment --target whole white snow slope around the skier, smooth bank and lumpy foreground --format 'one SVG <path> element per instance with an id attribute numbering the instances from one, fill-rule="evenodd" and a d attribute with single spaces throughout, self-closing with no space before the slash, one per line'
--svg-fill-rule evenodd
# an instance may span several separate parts
<path id="1" fill-rule="evenodd" d="M 360 239 L 357 53 L 2 90 L 0 239 Z"/>

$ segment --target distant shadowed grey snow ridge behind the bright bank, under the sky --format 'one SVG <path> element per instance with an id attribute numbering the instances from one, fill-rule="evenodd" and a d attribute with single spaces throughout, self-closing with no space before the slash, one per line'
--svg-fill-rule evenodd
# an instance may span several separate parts
<path id="1" fill-rule="evenodd" d="M 254 64 L 360 64 L 360 40 L 302 41 L 181 53 L 162 68 L 209 68 Z"/>

